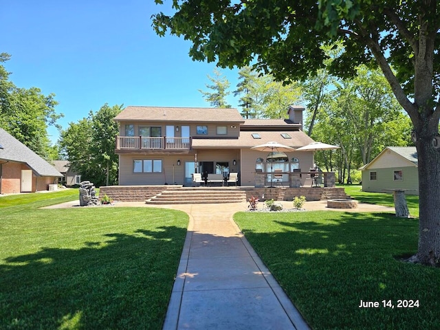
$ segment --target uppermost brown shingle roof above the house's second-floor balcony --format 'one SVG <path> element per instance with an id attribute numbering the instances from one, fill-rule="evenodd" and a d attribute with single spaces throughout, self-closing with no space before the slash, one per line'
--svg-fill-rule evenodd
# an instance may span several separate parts
<path id="1" fill-rule="evenodd" d="M 243 123 L 234 108 L 184 108 L 184 107 L 133 107 L 122 110 L 116 121 L 163 122 L 234 122 Z"/>

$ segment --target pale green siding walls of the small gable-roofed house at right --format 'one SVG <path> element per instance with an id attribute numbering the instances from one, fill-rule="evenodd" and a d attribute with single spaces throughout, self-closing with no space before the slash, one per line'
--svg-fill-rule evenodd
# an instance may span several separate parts
<path id="1" fill-rule="evenodd" d="M 379 160 L 379 159 L 378 159 Z M 377 162 L 375 162 L 376 165 Z M 391 164 L 382 162 L 384 164 Z M 401 170 L 403 180 L 394 180 L 394 170 Z M 370 180 L 370 172 L 376 172 L 376 180 Z M 408 195 L 419 195 L 419 177 L 415 166 L 393 166 L 386 168 L 367 168 L 362 170 L 362 190 L 366 192 L 391 192 L 389 189 L 404 189 Z M 387 190 L 388 189 L 388 190 Z"/>

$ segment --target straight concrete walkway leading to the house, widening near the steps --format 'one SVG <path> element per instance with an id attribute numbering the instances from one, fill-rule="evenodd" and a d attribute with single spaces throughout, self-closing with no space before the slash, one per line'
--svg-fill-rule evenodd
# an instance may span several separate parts
<path id="1" fill-rule="evenodd" d="M 247 207 L 173 206 L 190 224 L 164 330 L 309 329 L 232 221 Z"/>

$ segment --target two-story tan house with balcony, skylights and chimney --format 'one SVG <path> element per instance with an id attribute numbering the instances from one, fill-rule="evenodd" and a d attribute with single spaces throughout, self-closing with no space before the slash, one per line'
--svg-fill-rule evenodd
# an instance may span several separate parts
<path id="1" fill-rule="evenodd" d="M 256 169 L 309 170 L 313 152 L 251 149 L 266 142 L 292 148 L 314 142 L 302 130 L 303 111 L 289 107 L 286 120 L 244 120 L 236 109 L 126 107 L 115 117 L 119 184 L 191 186 L 192 173 L 239 173 L 241 186 L 254 186 Z"/>

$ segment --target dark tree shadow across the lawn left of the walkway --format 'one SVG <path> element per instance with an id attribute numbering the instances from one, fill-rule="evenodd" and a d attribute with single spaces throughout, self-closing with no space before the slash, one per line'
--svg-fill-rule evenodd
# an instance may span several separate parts
<path id="1" fill-rule="evenodd" d="M 161 329 L 186 229 L 159 229 L 5 260 L 0 328 Z"/>

